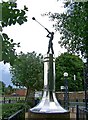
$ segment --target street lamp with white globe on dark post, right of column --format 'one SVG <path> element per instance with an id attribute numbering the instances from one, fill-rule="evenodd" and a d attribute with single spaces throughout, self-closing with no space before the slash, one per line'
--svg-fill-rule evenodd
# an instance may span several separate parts
<path id="1" fill-rule="evenodd" d="M 67 81 L 68 73 L 64 73 L 64 86 L 65 86 L 65 92 L 64 92 L 64 107 L 65 109 L 69 108 L 69 93 L 68 93 L 68 81 Z"/>

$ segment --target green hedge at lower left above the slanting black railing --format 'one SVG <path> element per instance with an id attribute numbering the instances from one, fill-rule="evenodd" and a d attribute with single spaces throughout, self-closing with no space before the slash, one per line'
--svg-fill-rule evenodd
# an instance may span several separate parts
<path id="1" fill-rule="evenodd" d="M 10 104 L 2 104 L 2 119 L 8 118 L 18 110 L 24 108 L 24 103 L 10 103 Z"/>

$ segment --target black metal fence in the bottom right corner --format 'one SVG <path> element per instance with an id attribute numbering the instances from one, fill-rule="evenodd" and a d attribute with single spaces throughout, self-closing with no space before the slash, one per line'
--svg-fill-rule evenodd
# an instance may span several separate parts
<path id="1" fill-rule="evenodd" d="M 76 120 L 88 120 L 88 110 L 77 105 Z"/>

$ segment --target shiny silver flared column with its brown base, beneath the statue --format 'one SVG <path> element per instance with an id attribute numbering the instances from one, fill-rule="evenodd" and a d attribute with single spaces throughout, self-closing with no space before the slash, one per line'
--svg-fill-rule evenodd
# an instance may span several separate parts
<path id="1" fill-rule="evenodd" d="M 38 105 L 29 110 L 29 120 L 70 120 L 70 112 L 64 109 L 55 95 L 55 58 L 44 57 L 44 92 Z"/>

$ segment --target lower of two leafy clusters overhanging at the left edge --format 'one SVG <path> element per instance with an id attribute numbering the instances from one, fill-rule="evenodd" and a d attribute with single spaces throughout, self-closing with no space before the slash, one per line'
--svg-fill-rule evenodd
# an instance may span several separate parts
<path id="1" fill-rule="evenodd" d="M 7 34 L 2 33 L 2 61 L 4 63 L 10 63 L 13 65 L 14 60 L 17 58 L 15 47 L 20 47 L 20 43 L 14 43 L 13 39 L 10 39 Z"/>

